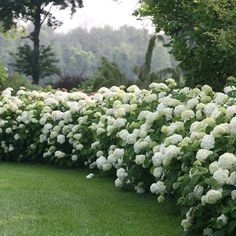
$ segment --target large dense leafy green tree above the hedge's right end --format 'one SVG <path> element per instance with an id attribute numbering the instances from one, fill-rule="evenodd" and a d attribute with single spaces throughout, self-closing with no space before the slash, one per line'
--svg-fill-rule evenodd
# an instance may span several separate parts
<path id="1" fill-rule="evenodd" d="M 151 16 L 171 46 L 186 84 L 222 89 L 236 75 L 236 0 L 143 0 L 136 15 Z"/>

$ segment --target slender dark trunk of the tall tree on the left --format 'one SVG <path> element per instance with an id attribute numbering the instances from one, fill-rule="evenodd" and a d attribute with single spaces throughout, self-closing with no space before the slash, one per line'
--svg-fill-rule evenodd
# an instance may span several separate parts
<path id="1" fill-rule="evenodd" d="M 39 56 L 40 56 L 40 45 L 39 45 L 39 34 L 41 29 L 41 5 L 36 6 L 35 16 L 34 16 L 34 31 L 32 33 L 33 41 L 33 65 L 32 65 L 32 79 L 34 84 L 39 83 L 40 79 L 40 66 L 39 66 Z"/>

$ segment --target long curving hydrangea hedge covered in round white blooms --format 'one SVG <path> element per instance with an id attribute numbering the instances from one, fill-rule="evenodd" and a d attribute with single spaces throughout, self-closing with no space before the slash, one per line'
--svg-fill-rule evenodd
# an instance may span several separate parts
<path id="1" fill-rule="evenodd" d="M 236 101 L 226 93 L 101 88 L 95 95 L 6 89 L 0 158 L 113 171 L 117 187 L 174 196 L 185 231 L 236 232 Z M 226 89 L 226 92 L 227 89 Z"/>

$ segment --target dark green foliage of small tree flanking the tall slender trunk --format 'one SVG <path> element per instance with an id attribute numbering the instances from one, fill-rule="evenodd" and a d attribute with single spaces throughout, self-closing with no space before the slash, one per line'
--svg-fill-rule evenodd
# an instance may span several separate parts
<path id="1" fill-rule="evenodd" d="M 16 71 L 27 76 L 33 74 L 32 61 L 34 52 L 27 44 L 18 48 L 16 53 Z M 51 46 L 41 46 L 39 52 L 39 79 L 48 77 L 54 74 L 60 74 L 60 69 L 57 67 L 58 60 Z"/>

